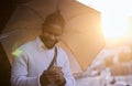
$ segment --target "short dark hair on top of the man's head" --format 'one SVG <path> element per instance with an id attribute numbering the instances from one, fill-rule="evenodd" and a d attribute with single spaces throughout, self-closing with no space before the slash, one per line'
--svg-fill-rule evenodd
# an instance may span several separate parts
<path id="1" fill-rule="evenodd" d="M 45 24 L 48 24 L 48 23 L 59 24 L 62 28 L 64 28 L 65 20 L 63 18 L 63 15 L 61 14 L 61 11 L 57 10 L 56 12 L 53 12 L 53 13 L 48 14 L 45 18 L 45 22 L 44 23 Z"/>

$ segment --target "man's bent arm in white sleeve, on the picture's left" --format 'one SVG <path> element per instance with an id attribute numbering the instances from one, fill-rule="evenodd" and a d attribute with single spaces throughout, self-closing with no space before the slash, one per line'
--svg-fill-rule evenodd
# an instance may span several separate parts
<path id="1" fill-rule="evenodd" d="M 28 58 L 25 54 L 14 57 L 11 72 L 12 86 L 40 86 L 40 76 L 28 76 Z"/>

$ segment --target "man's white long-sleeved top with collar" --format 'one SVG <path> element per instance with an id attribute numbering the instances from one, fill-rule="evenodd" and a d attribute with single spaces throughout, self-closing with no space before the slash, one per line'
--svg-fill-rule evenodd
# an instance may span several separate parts
<path id="1" fill-rule="evenodd" d="M 40 37 L 21 45 L 15 52 L 11 72 L 12 86 L 41 86 L 40 76 L 54 57 L 54 49 L 47 50 Z M 65 86 L 75 86 L 66 53 L 57 46 L 56 63 L 62 67 Z"/>

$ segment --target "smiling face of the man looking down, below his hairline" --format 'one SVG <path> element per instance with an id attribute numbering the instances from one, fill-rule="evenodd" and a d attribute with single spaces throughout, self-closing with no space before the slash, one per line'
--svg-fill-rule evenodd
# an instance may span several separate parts
<path id="1" fill-rule="evenodd" d="M 41 39 L 46 47 L 52 49 L 58 42 L 63 28 L 59 24 L 46 24 L 43 28 Z"/>

